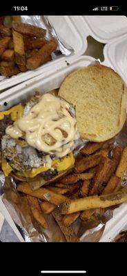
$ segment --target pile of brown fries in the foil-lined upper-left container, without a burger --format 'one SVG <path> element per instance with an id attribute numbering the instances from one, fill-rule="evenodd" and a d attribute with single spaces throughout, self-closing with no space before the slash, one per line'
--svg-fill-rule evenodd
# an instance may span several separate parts
<path id="1" fill-rule="evenodd" d="M 11 77 L 50 61 L 57 42 L 45 35 L 46 30 L 22 23 L 19 16 L 10 17 L 8 23 L 0 17 L 0 75 Z"/>

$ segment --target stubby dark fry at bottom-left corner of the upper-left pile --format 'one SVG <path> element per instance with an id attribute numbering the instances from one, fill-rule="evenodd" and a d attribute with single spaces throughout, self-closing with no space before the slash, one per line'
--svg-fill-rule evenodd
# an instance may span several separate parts
<path id="1" fill-rule="evenodd" d="M 19 73 L 19 68 L 17 66 L 0 66 L 0 74 L 5 77 L 11 77 Z"/>

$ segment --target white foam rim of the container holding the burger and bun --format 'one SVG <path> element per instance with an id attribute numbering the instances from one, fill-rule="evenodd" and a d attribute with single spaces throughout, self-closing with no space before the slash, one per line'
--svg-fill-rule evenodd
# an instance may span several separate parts
<path id="1" fill-rule="evenodd" d="M 50 73 L 50 75 L 48 75 L 47 77 L 41 77 L 39 75 L 34 79 L 30 79 L 24 83 L 19 84 L 19 86 L 10 88 L 10 90 L 0 95 L 1 110 L 6 108 L 5 106 L 3 106 L 3 103 L 5 101 L 8 102 L 8 108 L 10 108 L 10 106 L 19 103 L 21 100 L 28 99 L 30 95 L 34 95 L 36 90 L 41 93 L 45 93 L 50 92 L 50 90 L 52 89 L 59 88 L 61 82 L 70 72 L 81 67 L 86 67 L 94 61 L 95 59 L 92 57 L 78 57 L 77 61 L 73 61 L 70 66 L 66 66 L 66 68 L 61 68 L 61 70 L 57 70 L 57 72 Z M 2 210 L 3 207 L 2 205 L 0 205 L 1 213 Z M 6 218 L 6 220 L 8 220 L 8 216 L 6 217 L 6 213 L 4 214 L 4 217 Z M 115 209 L 113 218 L 110 219 L 110 221 L 108 221 L 108 223 L 106 224 L 106 229 L 104 230 L 104 234 L 101 237 L 100 242 L 110 242 L 119 233 L 119 231 L 124 227 L 124 224 L 126 223 L 127 204 L 124 203 L 121 204 L 119 208 Z M 13 226 L 14 222 L 12 228 Z"/>

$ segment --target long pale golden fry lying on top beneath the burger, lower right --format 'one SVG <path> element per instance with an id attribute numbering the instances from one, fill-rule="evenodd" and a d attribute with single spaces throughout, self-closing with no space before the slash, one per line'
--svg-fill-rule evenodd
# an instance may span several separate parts
<path id="1" fill-rule="evenodd" d="M 61 204 L 61 214 L 75 213 L 81 210 L 107 208 L 115 206 L 127 201 L 127 188 L 123 188 L 117 193 L 109 195 L 93 195 L 91 197 L 84 197 L 81 199 L 73 199 Z"/>

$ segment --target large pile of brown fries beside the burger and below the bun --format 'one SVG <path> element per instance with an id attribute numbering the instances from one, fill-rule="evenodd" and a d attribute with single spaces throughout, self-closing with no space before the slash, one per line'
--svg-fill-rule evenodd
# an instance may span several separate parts
<path id="1" fill-rule="evenodd" d="M 88 142 L 69 175 L 37 190 L 23 181 L 17 190 L 26 195 L 32 216 L 43 228 L 48 228 L 46 215 L 52 213 L 66 241 L 78 242 L 74 221 L 96 221 L 106 208 L 127 201 L 127 188 L 121 186 L 126 170 L 127 147 Z"/>

